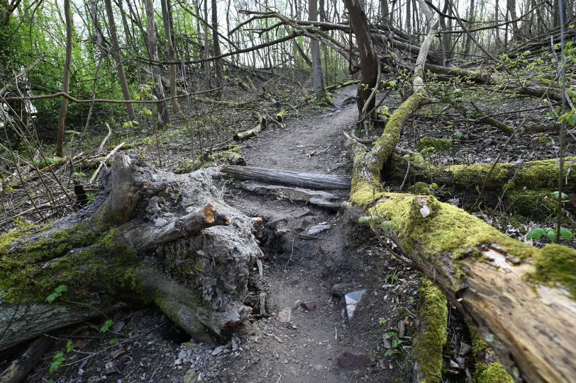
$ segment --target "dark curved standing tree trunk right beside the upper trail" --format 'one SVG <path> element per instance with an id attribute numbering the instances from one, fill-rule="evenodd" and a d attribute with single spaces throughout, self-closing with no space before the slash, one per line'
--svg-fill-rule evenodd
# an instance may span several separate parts
<path id="1" fill-rule="evenodd" d="M 364 108 L 372 89 L 377 86 L 378 61 L 362 4 L 360 1 L 354 0 L 344 0 L 344 4 L 348 8 L 350 28 L 354 31 L 356 43 L 360 50 L 360 73 L 362 74 L 362 82 L 358 86 L 358 113 L 360 115 L 363 109 L 372 110 L 376 105 L 376 99 L 372 98 L 367 108 Z M 362 117 L 364 116 L 360 115 L 360 118 Z"/>

